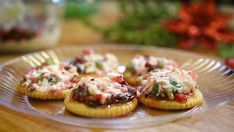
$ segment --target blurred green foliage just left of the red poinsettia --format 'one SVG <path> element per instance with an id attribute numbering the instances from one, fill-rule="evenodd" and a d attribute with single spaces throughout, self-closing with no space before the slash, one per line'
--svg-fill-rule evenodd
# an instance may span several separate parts
<path id="1" fill-rule="evenodd" d="M 174 46 L 177 37 L 161 22 L 176 17 L 180 2 L 119 0 L 121 19 L 102 29 L 107 41 L 155 46 Z"/>

